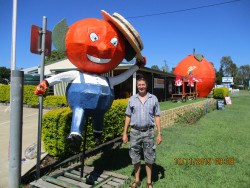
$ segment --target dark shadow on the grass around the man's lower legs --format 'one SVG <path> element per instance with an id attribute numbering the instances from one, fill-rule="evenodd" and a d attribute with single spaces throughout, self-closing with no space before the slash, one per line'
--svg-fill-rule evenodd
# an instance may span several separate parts
<path id="1" fill-rule="evenodd" d="M 126 168 L 129 165 L 132 165 L 131 159 L 129 157 L 129 149 L 128 148 L 117 148 L 113 150 L 108 150 L 103 152 L 101 157 L 96 159 L 93 162 L 93 167 L 97 171 L 116 171 L 122 168 Z M 125 175 L 125 174 L 123 174 Z M 132 170 L 131 176 L 134 177 L 135 172 Z M 141 166 L 141 180 L 147 177 L 145 164 L 142 162 Z M 158 165 L 153 164 L 152 167 L 152 181 L 157 182 L 159 179 L 164 179 L 165 177 L 165 169 Z"/>

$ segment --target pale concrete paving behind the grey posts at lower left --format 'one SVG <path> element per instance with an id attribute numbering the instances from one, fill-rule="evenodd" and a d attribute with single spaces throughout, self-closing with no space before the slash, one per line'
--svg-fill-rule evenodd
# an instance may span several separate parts
<path id="1" fill-rule="evenodd" d="M 44 110 L 44 114 L 48 110 Z M 22 175 L 36 166 L 36 158 L 25 159 L 25 149 L 37 143 L 38 109 L 23 108 L 23 136 L 22 136 Z M 8 187 L 9 173 L 9 135 L 10 134 L 10 107 L 0 104 L 0 188 Z M 41 159 L 46 155 L 42 148 Z"/>

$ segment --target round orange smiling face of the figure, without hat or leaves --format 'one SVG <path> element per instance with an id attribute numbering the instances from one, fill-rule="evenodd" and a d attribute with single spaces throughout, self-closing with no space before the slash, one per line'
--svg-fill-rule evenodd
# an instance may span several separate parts
<path id="1" fill-rule="evenodd" d="M 74 23 L 66 34 L 66 55 L 81 71 L 106 73 L 125 56 L 125 42 L 105 20 L 88 18 Z"/>

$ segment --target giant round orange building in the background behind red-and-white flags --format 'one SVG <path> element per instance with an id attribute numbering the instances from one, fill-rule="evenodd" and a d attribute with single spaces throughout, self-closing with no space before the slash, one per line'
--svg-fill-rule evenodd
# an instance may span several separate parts
<path id="1" fill-rule="evenodd" d="M 213 65 L 200 54 L 189 55 L 183 59 L 176 66 L 174 73 L 180 74 L 182 77 L 192 75 L 197 81 L 198 97 L 207 97 L 216 80 Z"/>

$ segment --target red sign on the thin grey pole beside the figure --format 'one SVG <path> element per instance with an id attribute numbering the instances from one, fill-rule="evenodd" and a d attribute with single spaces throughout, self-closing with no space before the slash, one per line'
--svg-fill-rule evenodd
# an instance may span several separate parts
<path id="1" fill-rule="evenodd" d="M 45 56 L 51 55 L 51 35 L 51 31 L 46 30 Z M 30 52 L 34 54 L 42 53 L 42 28 L 35 25 L 31 26 Z"/>

